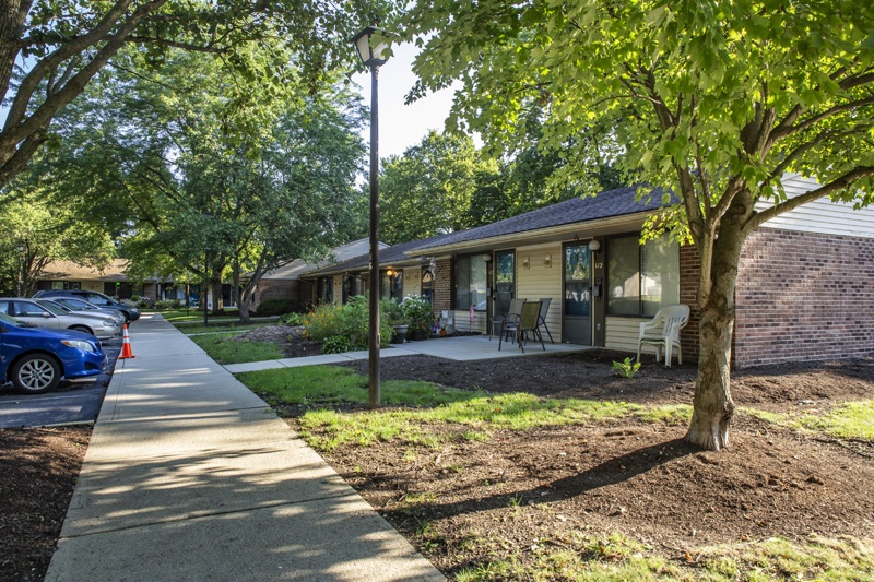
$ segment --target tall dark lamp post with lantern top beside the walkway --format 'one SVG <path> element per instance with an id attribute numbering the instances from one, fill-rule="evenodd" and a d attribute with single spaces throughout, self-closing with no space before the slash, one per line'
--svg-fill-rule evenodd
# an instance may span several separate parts
<path id="1" fill-rule="evenodd" d="M 373 26 L 352 39 L 362 62 L 370 68 L 370 297 L 369 297 L 369 401 L 379 406 L 379 67 L 386 63 L 391 40 Z"/>

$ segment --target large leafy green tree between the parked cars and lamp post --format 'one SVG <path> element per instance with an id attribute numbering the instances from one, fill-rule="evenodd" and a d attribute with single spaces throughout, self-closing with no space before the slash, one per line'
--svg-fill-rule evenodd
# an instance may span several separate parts
<path id="1" fill-rule="evenodd" d="M 359 98 L 340 84 L 279 92 L 209 55 L 172 51 L 161 71 L 121 57 L 58 118 L 50 174 L 117 233 L 131 274 L 216 289 L 231 274 L 245 320 L 265 271 L 343 241 L 354 222 Z"/>

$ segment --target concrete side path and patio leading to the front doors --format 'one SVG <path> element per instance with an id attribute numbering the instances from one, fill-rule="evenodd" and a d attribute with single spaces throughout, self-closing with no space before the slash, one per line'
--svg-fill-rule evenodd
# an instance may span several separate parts
<path id="1" fill-rule="evenodd" d="M 392 345 L 379 351 L 380 358 L 397 356 L 434 356 L 437 358 L 456 361 L 474 361 L 480 359 L 518 358 L 521 356 L 543 356 L 555 354 L 569 354 L 583 352 L 591 347 L 574 344 L 544 344 L 544 351 L 538 342 L 529 342 L 522 352 L 517 345 L 504 342 L 498 351 L 497 337 L 489 341 L 487 335 L 469 335 L 462 337 L 440 337 L 422 342 L 406 342 Z M 265 361 L 250 361 L 247 364 L 228 364 L 225 366 L 232 373 L 269 370 L 273 368 L 294 368 L 297 366 L 312 366 L 315 364 L 340 364 L 356 359 L 367 359 L 368 352 L 347 352 L 345 354 L 327 354 L 323 356 L 307 356 L 304 358 L 270 359 Z"/>

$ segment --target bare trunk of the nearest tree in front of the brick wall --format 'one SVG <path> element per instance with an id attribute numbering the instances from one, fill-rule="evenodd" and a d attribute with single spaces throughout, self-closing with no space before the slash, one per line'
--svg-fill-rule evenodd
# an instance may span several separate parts
<path id="1" fill-rule="evenodd" d="M 712 261 L 709 270 L 702 268 L 699 283 L 700 352 L 686 440 L 711 451 L 729 446 L 729 425 L 734 415 L 731 397 L 734 288 L 746 239 L 743 225 L 752 212 L 752 197 L 748 192 L 739 194 L 721 221 L 719 234 L 705 237 L 701 242 L 712 246 Z"/>

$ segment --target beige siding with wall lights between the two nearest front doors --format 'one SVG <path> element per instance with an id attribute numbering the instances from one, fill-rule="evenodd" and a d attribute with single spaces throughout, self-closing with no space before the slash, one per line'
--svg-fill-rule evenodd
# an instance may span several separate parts
<path id="1" fill-rule="evenodd" d="M 545 264 L 548 257 L 550 264 Z M 529 266 L 523 266 L 528 258 Z M 539 245 L 516 249 L 516 296 L 536 301 L 552 297 L 546 326 L 553 340 L 562 341 L 562 245 Z M 548 337 L 547 337 L 548 341 Z"/>

